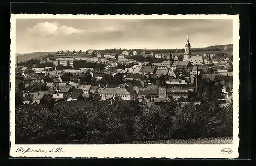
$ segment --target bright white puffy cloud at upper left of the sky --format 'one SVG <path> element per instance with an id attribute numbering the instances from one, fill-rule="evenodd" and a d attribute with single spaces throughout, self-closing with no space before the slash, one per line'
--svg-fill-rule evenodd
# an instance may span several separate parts
<path id="1" fill-rule="evenodd" d="M 72 35 L 84 32 L 84 30 L 59 25 L 59 23 L 41 22 L 37 23 L 32 28 L 28 28 L 28 31 L 32 34 L 38 34 L 40 36 L 48 35 Z"/>

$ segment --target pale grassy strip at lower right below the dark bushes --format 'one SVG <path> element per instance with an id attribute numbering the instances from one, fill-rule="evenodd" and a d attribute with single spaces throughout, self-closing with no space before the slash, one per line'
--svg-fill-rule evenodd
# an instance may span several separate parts
<path id="1" fill-rule="evenodd" d="M 136 141 L 122 144 L 232 144 L 232 137 Z"/>

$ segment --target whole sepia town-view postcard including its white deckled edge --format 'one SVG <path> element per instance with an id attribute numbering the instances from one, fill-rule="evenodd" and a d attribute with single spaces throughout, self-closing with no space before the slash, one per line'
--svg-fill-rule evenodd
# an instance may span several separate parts
<path id="1" fill-rule="evenodd" d="M 207 157 L 207 145 L 238 155 L 238 16 L 11 19 L 13 156 L 198 146 Z"/>

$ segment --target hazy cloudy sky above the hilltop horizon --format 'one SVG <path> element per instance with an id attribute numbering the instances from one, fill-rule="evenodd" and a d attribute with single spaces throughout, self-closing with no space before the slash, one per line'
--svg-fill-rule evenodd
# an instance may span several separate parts
<path id="1" fill-rule="evenodd" d="M 16 19 L 16 53 L 191 48 L 233 43 L 233 20 Z"/>

